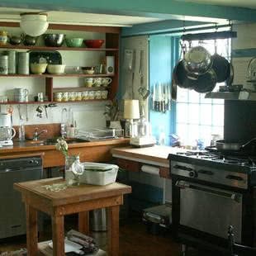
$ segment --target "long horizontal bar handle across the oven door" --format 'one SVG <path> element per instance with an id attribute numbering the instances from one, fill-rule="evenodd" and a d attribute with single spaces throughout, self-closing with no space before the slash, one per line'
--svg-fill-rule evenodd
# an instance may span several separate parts
<path id="1" fill-rule="evenodd" d="M 213 188 L 213 187 L 208 187 L 208 186 L 202 186 L 202 185 L 196 184 L 196 183 L 187 183 L 185 181 L 177 181 L 175 183 L 175 186 L 180 187 L 181 189 L 192 188 L 192 189 L 196 189 L 198 191 L 208 192 L 208 193 L 211 193 L 218 197 L 225 197 L 225 198 L 237 201 L 237 202 L 240 202 L 241 198 L 242 198 L 242 196 L 240 194 L 237 194 L 234 192 L 229 192 L 226 190 L 224 191 L 224 190 L 218 189 L 216 187 Z"/>

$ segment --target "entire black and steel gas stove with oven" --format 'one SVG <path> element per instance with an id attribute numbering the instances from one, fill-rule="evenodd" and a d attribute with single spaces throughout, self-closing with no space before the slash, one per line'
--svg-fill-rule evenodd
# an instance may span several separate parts
<path id="1" fill-rule="evenodd" d="M 168 159 L 174 235 L 183 244 L 223 253 L 228 226 L 233 225 L 235 240 L 252 246 L 256 157 L 181 149 Z"/>

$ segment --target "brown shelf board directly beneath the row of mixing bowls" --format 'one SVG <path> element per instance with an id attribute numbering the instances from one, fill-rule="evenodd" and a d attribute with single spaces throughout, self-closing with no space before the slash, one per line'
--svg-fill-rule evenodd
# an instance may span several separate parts
<path id="1" fill-rule="evenodd" d="M 0 45 L 0 49 L 15 49 L 15 50 L 75 50 L 75 51 L 118 51 L 118 48 L 87 48 L 87 47 L 48 47 L 48 46 L 26 46 L 26 45 Z"/>

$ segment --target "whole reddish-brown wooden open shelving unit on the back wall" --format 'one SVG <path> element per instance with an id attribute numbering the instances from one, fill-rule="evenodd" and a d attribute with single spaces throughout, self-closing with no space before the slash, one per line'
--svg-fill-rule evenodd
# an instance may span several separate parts
<path id="1" fill-rule="evenodd" d="M 19 27 L 18 22 L 8 22 L 0 21 L 0 26 L 7 27 Z M 64 50 L 64 51 L 90 51 L 90 52 L 105 52 L 105 56 L 113 56 L 114 70 L 115 74 L 107 73 L 95 73 L 95 74 L 85 74 L 85 73 L 63 73 L 63 74 L 0 74 L 0 78 L 45 78 L 45 95 L 48 96 L 49 101 L 47 102 L 0 102 L 1 104 L 48 104 L 48 103 L 69 103 L 69 102 L 55 102 L 54 92 L 59 90 L 59 88 L 54 88 L 54 78 L 101 78 L 101 77 L 111 77 L 111 87 L 108 88 L 70 88 L 73 91 L 86 91 L 86 90 L 106 90 L 108 91 L 107 100 L 112 101 L 116 97 L 116 92 L 119 84 L 119 44 L 120 44 L 120 33 L 121 29 L 119 27 L 111 26 L 79 26 L 79 25 L 63 25 L 63 24 L 50 24 L 50 29 L 53 30 L 67 30 L 67 31 L 90 31 L 97 33 L 105 33 L 105 45 L 104 48 L 87 48 L 87 47 L 47 47 L 45 45 L 0 45 L 0 49 L 5 50 Z M 64 53 L 63 53 L 64 54 Z M 61 88 L 61 92 L 69 91 L 69 88 Z M 86 100 L 86 101 L 74 101 L 74 102 L 97 102 L 106 101 L 105 99 L 100 100 Z M 73 103 L 73 102 L 70 102 Z"/>

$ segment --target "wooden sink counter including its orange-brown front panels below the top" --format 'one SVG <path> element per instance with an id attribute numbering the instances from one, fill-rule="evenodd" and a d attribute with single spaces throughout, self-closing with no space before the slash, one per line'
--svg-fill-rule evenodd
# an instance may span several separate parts
<path id="1" fill-rule="evenodd" d="M 69 154 L 79 154 L 81 162 L 107 162 L 111 160 L 111 149 L 126 146 L 128 139 L 101 140 L 69 144 Z M 64 156 L 55 149 L 55 145 L 34 145 L 29 142 L 14 141 L 12 146 L 0 148 L 0 157 L 17 154 L 44 153 L 44 168 L 64 165 Z"/>

